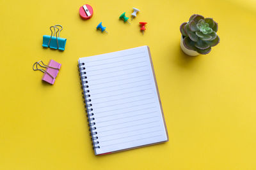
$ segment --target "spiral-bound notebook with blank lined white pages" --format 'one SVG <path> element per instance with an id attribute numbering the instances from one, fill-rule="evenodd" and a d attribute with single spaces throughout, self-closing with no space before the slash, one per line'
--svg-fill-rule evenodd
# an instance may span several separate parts
<path id="1" fill-rule="evenodd" d="M 95 155 L 168 141 L 148 46 L 78 62 Z"/>

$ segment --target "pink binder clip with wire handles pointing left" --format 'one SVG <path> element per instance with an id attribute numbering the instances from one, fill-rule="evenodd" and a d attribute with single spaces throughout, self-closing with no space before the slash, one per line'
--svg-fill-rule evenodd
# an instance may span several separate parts
<path id="1" fill-rule="evenodd" d="M 38 65 L 41 66 L 41 67 L 45 67 L 46 70 L 45 69 L 38 69 Z M 42 60 L 40 60 L 38 62 L 35 62 L 33 64 L 33 70 L 34 71 L 39 70 L 39 71 L 42 71 L 44 73 L 44 76 L 43 76 L 42 80 L 44 80 L 47 83 L 50 83 L 52 85 L 54 84 L 55 78 L 59 73 L 60 67 L 61 67 L 61 64 L 54 61 L 54 60 L 50 60 L 48 66 L 45 65 L 44 62 L 42 62 Z"/>

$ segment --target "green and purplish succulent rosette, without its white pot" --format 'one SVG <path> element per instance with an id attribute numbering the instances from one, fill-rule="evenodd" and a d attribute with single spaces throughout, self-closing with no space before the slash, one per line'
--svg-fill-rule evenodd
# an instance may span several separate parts
<path id="1" fill-rule="evenodd" d="M 216 34 L 217 31 L 217 22 L 196 14 L 189 18 L 189 22 L 180 25 L 184 46 L 201 54 L 211 52 L 211 47 L 218 45 L 220 38 Z"/>

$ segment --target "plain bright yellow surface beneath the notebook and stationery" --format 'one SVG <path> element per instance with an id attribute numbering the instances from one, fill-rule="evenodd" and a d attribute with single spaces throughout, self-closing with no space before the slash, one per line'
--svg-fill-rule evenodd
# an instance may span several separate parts
<path id="1" fill-rule="evenodd" d="M 90 20 L 79 6 L 90 4 Z M 132 7 L 141 11 L 118 20 Z M 180 50 L 179 26 L 193 13 L 219 23 L 208 55 Z M 138 22 L 148 22 L 142 35 Z M 99 22 L 108 34 L 96 31 Z M 0 0 L 0 169 L 256 169 L 256 3 L 253 0 Z M 64 52 L 42 48 L 49 26 L 63 25 Z M 170 141 L 95 156 L 77 59 L 148 45 Z M 33 71 L 62 64 L 54 85 Z"/>

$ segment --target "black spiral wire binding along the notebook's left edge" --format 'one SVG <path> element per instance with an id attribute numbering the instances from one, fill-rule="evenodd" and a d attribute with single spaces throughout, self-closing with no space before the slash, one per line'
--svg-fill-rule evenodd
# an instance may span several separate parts
<path id="1" fill-rule="evenodd" d="M 90 131 L 90 135 L 92 136 L 92 145 L 93 145 L 93 149 L 96 148 L 100 148 L 99 146 L 99 141 L 97 141 L 98 136 L 97 136 L 97 131 L 95 131 L 97 129 L 97 127 L 95 127 L 96 123 L 93 121 L 95 120 L 95 118 L 93 117 L 93 108 L 92 108 L 92 103 L 90 103 L 92 101 L 92 99 L 90 99 L 90 90 L 86 90 L 87 88 L 89 88 L 89 86 L 87 85 L 88 81 L 87 76 L 86 76 L 86 71 L 85 71 L 85 66 L 84 63 L 79 63 L 77 64 L 77 67 L 79 69 L 79 74 L 80 74 L 80 78 L 81 78 L 81 89 L 83 89 L 83 98 L 84 98 L 84 108 L 86 109 L 86 113 L 87 113 L 87 117 L 88 117 L 88 126 L 89 131 Z"/>

